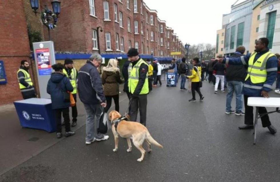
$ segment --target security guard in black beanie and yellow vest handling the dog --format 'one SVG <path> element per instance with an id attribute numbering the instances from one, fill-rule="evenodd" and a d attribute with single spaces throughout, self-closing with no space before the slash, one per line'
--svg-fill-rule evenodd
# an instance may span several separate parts
<path id="1" fill-rule="evenodd" d="M 129 49 L 127 56 L 131 63 L 128 67 L 128 88 L 131 94 L 131 121 L 136 121 L 138 107 L 140 123 L 146 126 L 147 94 L 149 93 L 148 67 L 149 65 L 138 56 L 135 48 Z"/>

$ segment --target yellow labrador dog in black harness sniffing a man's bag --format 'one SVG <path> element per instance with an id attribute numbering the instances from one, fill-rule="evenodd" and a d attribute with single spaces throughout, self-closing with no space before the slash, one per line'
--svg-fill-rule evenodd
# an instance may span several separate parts
<path id="1" fill-rule="evenodd" d="M 115 137 L 115 149 L 113 149 L 114 152 L 118 150 L 119 135 L 127 139 L 127 152 L 131 152 L 132 146 L 130 139 L 132 139 L 133 144 L 142 154 L 141 157 L 137 159 L 138 162 L 141 162 L 144 159 L 144 155 L 146 152 L 142 147 L 144 141 L 146 141 L 149 146 L 148 152 L 151 152 L 151 143 L 160 148 L 163 148 L 162 145 L 160 145 L 153 139 L 148 129 L 144 125 L 132 121 L 119 121 L 119 118 L 121 118 L 121 115 L 117 111 L 111 111 L 109 113 L 109 119 L 111 120 L 112 131 Z"/>

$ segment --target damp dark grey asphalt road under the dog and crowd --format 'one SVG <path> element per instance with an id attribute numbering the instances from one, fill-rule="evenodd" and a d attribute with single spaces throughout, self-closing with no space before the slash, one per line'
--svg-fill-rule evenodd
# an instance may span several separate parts
<path id="1" fill-rule="evenodd" d="M 279 133 L 271 135 L 259 122 L 253 145 L 252 130 L 237 128 L 243 116 L 224 113 L 226 92 L 213 90 L 204 82 L 205 99 L 196 103 L 188 102 L 191 93 L 179 91 L 179 85 L 163 85 L 148 95 L 147 128 L 163 149 L 153 146 L 141 163 L 134 146 L 126 152 L 125 139 L 117 153 L 112 151 L 111 132 L 109 140 L 85 145 L 83 126 L 75 136 L 1 175 L 0 181 L 279 181 Z M 127 105 L 128 99 L 120 103 L 121 113 Z M 270 118 L 280 132 L 278 116 Z"/>

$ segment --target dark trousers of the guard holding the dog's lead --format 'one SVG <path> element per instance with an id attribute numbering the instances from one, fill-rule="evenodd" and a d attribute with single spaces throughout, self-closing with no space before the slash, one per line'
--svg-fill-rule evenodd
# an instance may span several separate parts
<path id="1" fill-rule="evenodd" d="M 147 94 L 137 95 L 131 99 L 131 121 L 137 120 L 138 109 L 140 113 L 140 123 L 146 126 L 147 117 Z"/>

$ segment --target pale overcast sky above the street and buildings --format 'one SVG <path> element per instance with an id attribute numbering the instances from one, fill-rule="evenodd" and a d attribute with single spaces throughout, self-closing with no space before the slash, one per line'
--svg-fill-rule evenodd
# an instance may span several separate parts
<path id="1" fill-rule="evenodd" d="M 230 13 L 236 0 L 144 0 L 158 17 L 174 29 L 185 44 L 216 44 L 216 31 L 222 28 L 223 14 Z M 244 0 L 239 0 L 243 2 Z"/>

